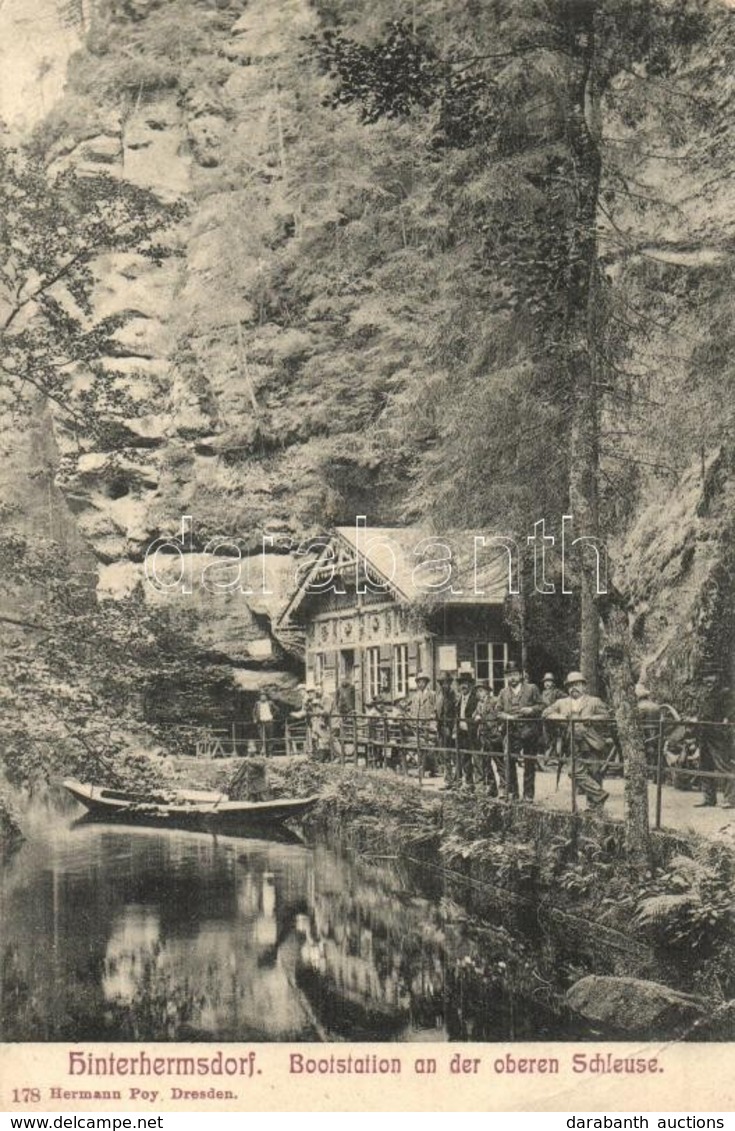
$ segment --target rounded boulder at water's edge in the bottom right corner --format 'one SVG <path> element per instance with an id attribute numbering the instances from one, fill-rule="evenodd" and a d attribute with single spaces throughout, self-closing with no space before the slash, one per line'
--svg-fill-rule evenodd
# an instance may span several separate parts
<path id="1" fill-rule="evenodd" d="M 567 993 L 567 1003 L 605 1031 L 641 1039 L 662 1034 L 683 1036 L 707 1012 L 703 999 L 658 982 L 597 974 L 576 982 Z"/>

